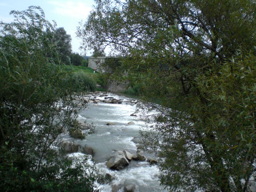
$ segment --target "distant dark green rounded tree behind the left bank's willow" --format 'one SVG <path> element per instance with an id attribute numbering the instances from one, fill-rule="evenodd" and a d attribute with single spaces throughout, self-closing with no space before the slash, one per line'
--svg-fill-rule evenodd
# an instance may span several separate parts
<path id="1" fill-rule="evenodd" d="M 59 27 L 54 31 L 54 42 L 61 61 L 68 65 L 71 57 L 71 37 L 68 35 L 63 27 Z"/>

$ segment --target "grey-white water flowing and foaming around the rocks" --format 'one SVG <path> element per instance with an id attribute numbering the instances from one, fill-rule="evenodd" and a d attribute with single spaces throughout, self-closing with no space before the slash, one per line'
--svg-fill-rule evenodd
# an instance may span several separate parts
<path id="1" fill-rule="evenodd" d="M 114 97 L 127 101 L 129 98 L 109 94 L 107 97 Z M 103 99 L 98 97 L 97 99 Z M 81 146 L 92 147 L 95 151 L 93 160 L 101 173 L 115 175 L 116 180 L 112 185 L 121 186 L 118 191 L 124 191 L 123 186 L 135 184 L 135 191 L 165 191 L 159 186 L 159 170 L 156 165 L 149 165 L 148 162 L 131 161 L 130 165 L 123 170 L 110 170 L 106 166 L 107 160 L 115 153 L 115 151 L 129 151 L 135 154 L 137 151 L 136 144 L 131 141 L 133 137 L 138 137 L 139 130 L 145 126 L 145 122 L 138 117 L 130 116 L 135 113 L 136 105 L 128 102 L 122 104 L 111 104 L 100 102 L 98 104 L 89 103 L 89 105 L 81 111 L 78 120 L 86 120 L 87 123 L 95 125 L 96 134 L 86 137 L 85 140 L 75 141 Z M 133 121 L 134 125 L 127 125 Z M 115 125 L 107 126 L 106 124 L 113 122 Z M 111 191 L 110 185 L 99 186 L 103 192 Z"/>

